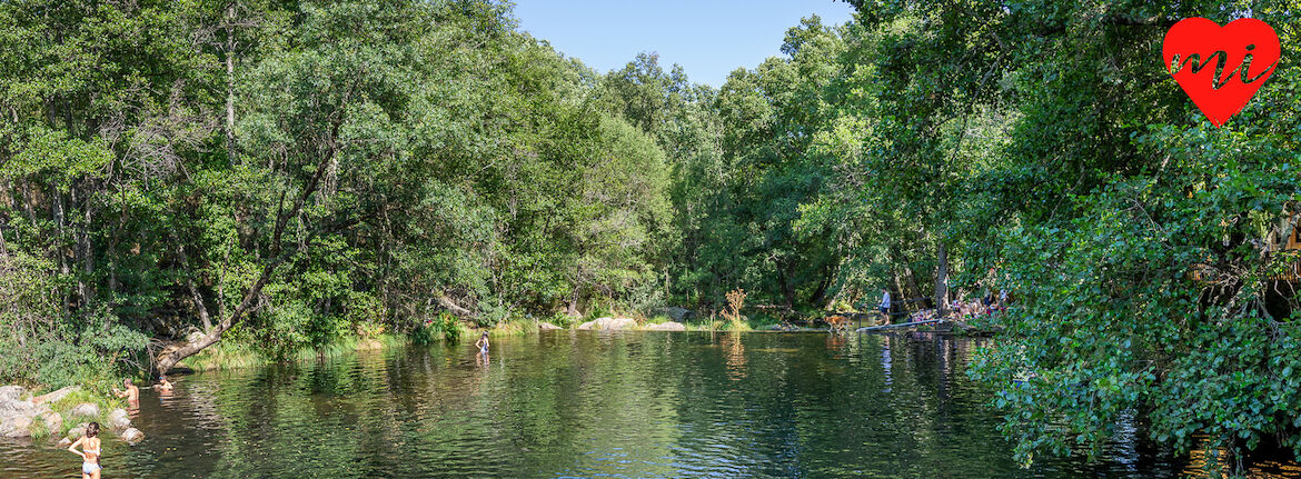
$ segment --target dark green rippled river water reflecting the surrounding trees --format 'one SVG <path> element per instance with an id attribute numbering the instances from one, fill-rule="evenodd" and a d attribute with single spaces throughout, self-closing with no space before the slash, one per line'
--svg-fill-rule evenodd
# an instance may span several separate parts
<path id="1" fill-rule="evenodd" d="M 180 376 L 104 478 L 1172 478 L 1119 437 L 1101 462 L 1010 459 L 973 340 L 544 332 Z M 78 478 L 0 441 L 0 476 Z"/>

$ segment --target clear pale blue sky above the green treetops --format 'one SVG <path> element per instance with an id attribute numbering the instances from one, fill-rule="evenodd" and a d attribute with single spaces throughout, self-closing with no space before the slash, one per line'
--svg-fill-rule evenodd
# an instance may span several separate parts
<path id="1" fill-rule="evenodd" d="M 680 64 L 693 83 L 722 86 L 739 66 L 781 55 L 786 30 L 811 14 L 844 23 L 853 7 L 833 0 L 516 0 L 520 30 L 605 73 L 639 52 Z"/>

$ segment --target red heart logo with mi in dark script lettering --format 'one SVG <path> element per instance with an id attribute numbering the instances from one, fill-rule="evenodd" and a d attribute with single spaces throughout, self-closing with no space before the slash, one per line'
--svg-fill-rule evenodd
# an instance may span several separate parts
<path id="1" fill-rule="evenodd" d="M 1215 126 L 1246 107 L 1279 64 L 1279 35 L 1268 23 L 1240 18 L 1220 27 L 1185 18 L 1166 33 L 1166 68 Z"/>

